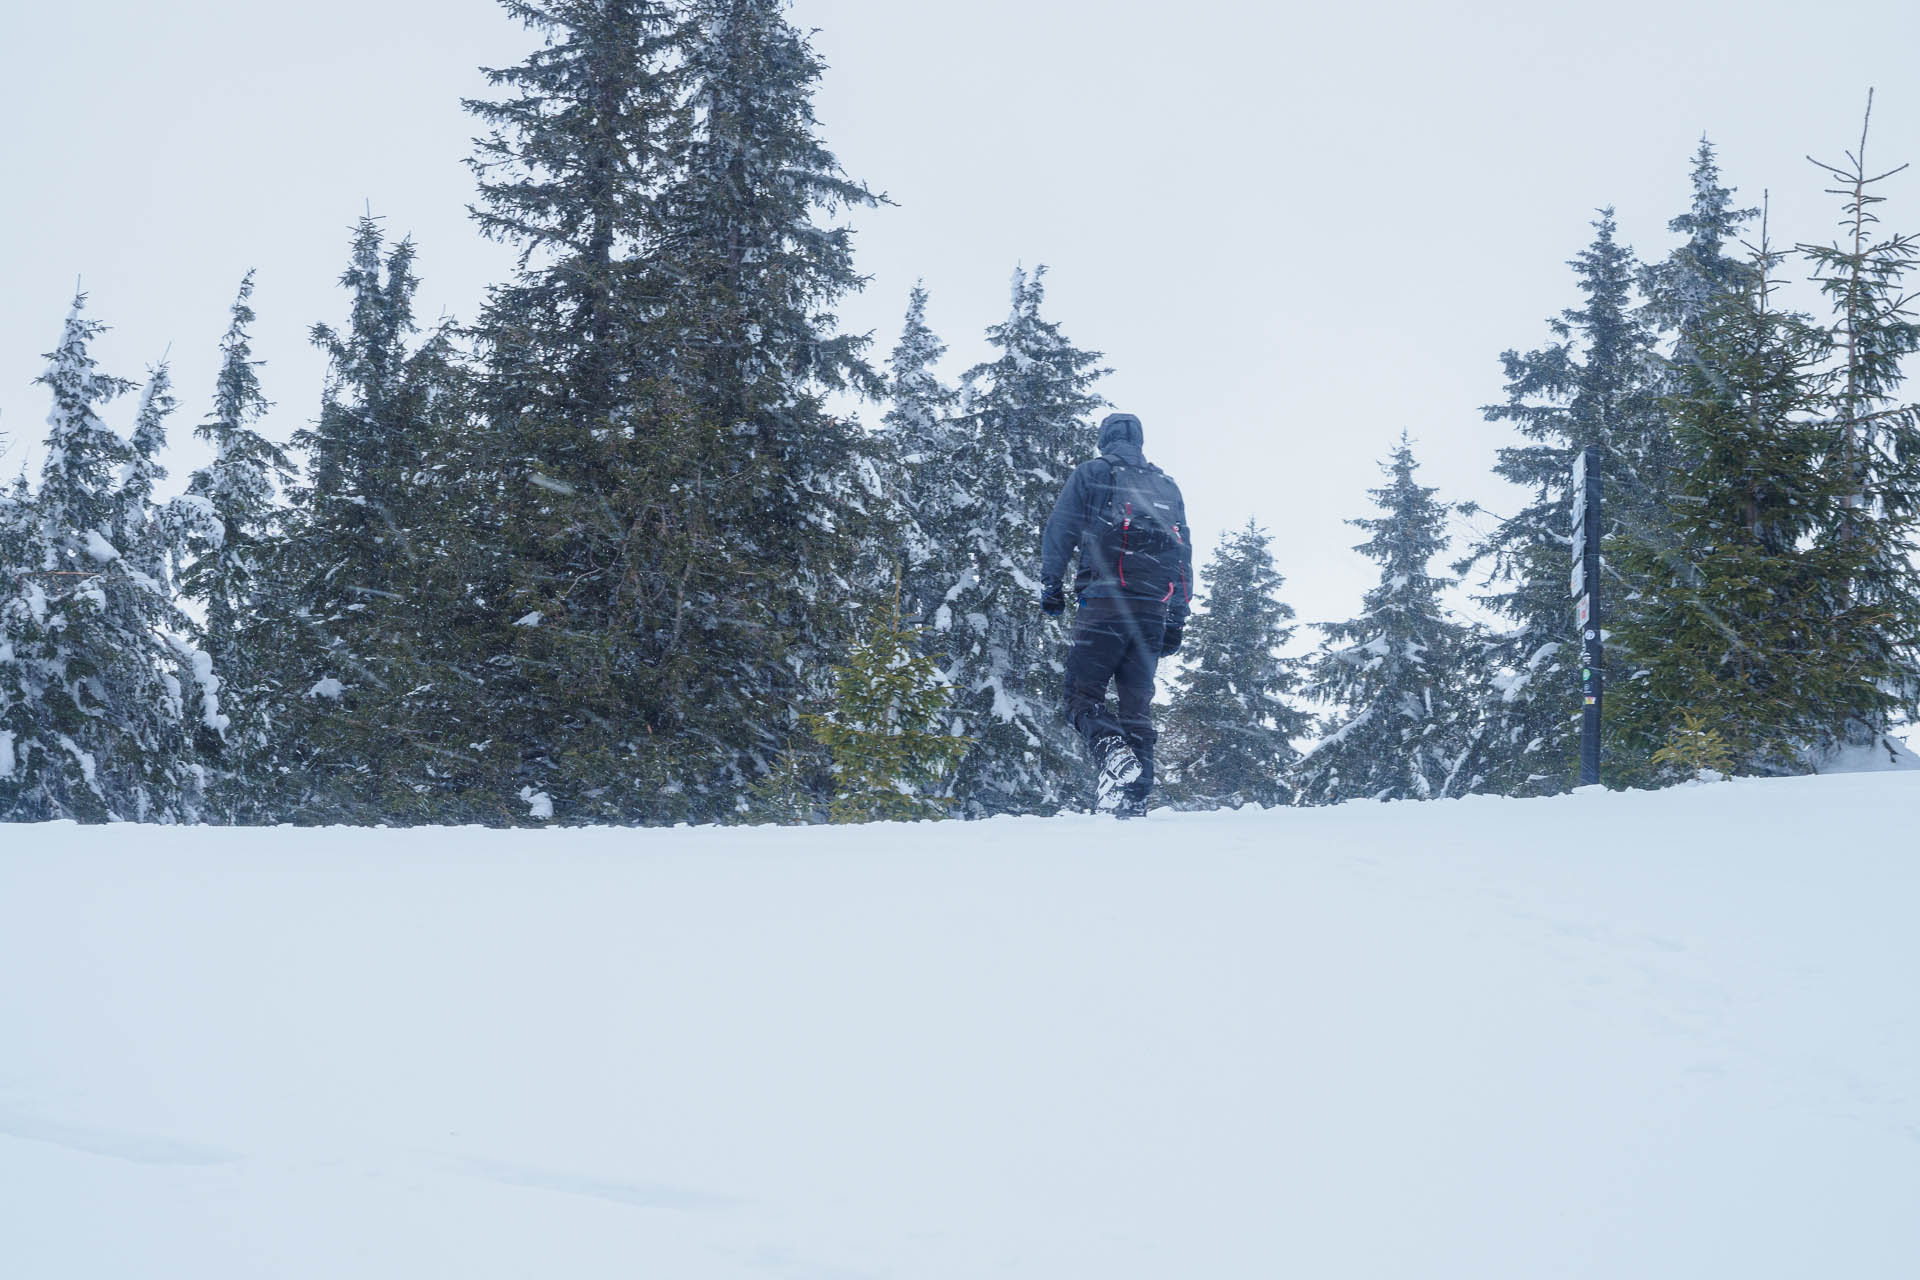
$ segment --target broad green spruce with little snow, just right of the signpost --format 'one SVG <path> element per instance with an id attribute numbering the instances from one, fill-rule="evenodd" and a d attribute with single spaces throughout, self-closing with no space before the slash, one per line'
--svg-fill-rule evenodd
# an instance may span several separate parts
<path id="1" fill-rule="evenodd" d="M 1651 779 L 1799 771 L 1885 708 L 1887 672 L 1845 660 L 1872 649 L 1876 618 L 1836 606 L 1864 545 L 1828 535 L 1851 491 L 1826 461 L 1830 338 L 1774 305 L 1784 257 L 1763 232 L 1743 286 L 1695 317 L 1670 397 L 1690 464 L 1663 549 L 1620 553 L 1647 597 L 1620 628 L 1638 658 L 1611 718 Z"/>

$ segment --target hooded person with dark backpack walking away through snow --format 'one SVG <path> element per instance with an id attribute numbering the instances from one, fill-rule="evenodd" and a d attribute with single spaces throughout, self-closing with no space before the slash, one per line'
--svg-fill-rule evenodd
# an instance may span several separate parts
<path id="1" fill-rule="evenodd" d="M 1173 478 L 1146 461 L 1131 413 L 1100 422 L 1100 457 L 1073 468 L 1041 541 L 1041 610 L 1066 612 L 1079 553 L 1068 723 L 1087 743 L 1098 808 L 1144 818 L 1154 787 L 1154 666 L 1181 647 L 1192 601 L 1192 532 Z M 1106 700 L 1116 685 L 1119 712 Z"/>

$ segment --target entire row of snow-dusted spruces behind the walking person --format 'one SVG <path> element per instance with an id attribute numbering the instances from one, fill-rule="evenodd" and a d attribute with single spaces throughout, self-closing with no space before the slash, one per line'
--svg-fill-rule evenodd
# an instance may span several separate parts
<path id="1" fill-rule="evenodd" d="M 467 326 L 422 330 L 415 246 L 355 228 L 321 409 L 261 422 L 252 276 L 161 501 L 175 413 L 90 355 L 75 299 L 36 484 L 0 493 L 0 818 L 219 823 L 816 821 L 1087 802 L 1060 722 L 1039 528 L 1092 451 L 1106 372 L 1016 273 L 993 359 L 941 380 L 916 290 L 874 361 L 839 215 L 881 201 L 812 115 L 783 0 L 507 0 L 541 38 L 468 102 L 474 217 L 518 249 Z M 1603 217 L 1580 305 L 1507 353 L 1528 505 L 1444 562 L 1448 507 L 1388 459 L 1365 612 L 1284 658 L 1252 522 L 1202 574 L 1167 712 L 1183 804 L 1540 794 L 1572 779 L 1567 484 L 1611 503 L 1613 775 L 1793 771 L 1912 714 L 1914 242 L 1860 161 L 1828 248 L 1751 251 L 1709 148 L 1682 244 Z M 1782 309 L 1791 263 L 1834 315 Z M 885 405 L 866 428 L 837 397 Z M 1452 576 L 1450 576 L 1452 574 Z M 1509 626 L 1465 626 L 1467 576 Z M 1313 708 L 1332 708 L 1329 716 Z M 1317 739 L 1302 758 L 1300 743 Z"/>

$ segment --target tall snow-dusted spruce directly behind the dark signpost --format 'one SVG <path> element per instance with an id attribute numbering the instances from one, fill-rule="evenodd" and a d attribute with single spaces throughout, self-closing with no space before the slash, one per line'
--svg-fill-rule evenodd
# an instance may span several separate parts
<path id="1" fill-rule="evenodd" d="M 1501 355 L 1507 401 L 1484 411 L 1528 441 L 1501 449 L 1494 466 L 1521 487 L 1524 507 L 1455 566 L 1482 566 L 1478 603 L 1513 624 L 1488 645 L 1478 681 L 1486 697 L 1476 750 L 1486 789 L 1501 794 L 1548 794 L 1574 779 L 1580 641 L 1567 597 L 1574 459 L 1601 451 L 1605 545 L 1628 528 L 1657 528 L 1672 462 L 1665 367 L 1657 334 L 1634 305 L 1634 255 L 1615 240 L 1611 209 L 1594 226 L 1592 246 L 1571 263 L 1586 301 L 1549 322 L 1546 347 Z M 1615 601 L 1636 595 L 1636 583 L 1607 581 Z"/>

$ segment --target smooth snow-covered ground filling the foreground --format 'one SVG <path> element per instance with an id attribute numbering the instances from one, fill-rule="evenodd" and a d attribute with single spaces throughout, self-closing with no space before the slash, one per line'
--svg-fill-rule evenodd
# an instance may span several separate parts
<path id="1" fill-rule="evenodd" d="M 0 827 L 0 1274 L 1907 1278 L 1916 814 Z"/>

